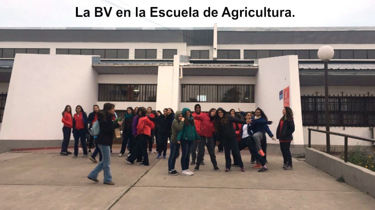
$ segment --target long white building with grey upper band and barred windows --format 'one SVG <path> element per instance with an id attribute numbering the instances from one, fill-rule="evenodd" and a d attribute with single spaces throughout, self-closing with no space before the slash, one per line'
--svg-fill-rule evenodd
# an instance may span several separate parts
<path id="1" fill-rule="evenodd" d="M 284 106 L 279 92 L 289 87 L 292 152 L 302 154 L 308 126 L 325 125 L 324 66 L 317 58 L 323 45 L 335 49 L 331 131 L 370 138 L 375 28 L 1 28 L 0 151 L 60 146 L 67 104 L 86 112 L 105 102 L 117 110 L 260 107 L 276 122 L 275 134 Z M 279 151 L 278 142 L 268 143 Z M 370 145 L 349 144 L 357 143 Z M 312 144 L 324 145 L 325 135 L 314 133 Z M 343 144 L 331 137 L 333 151 Z"/>

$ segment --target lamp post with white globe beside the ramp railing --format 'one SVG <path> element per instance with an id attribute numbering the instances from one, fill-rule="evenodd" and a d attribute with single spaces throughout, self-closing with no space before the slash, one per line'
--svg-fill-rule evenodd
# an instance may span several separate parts
<path id="1" fill-rule="evenodd" d="M 329 99 L 328 99 L 328 61 L 333 58 L 335 51 L 331 46 L 323 46 L 318 50 L 318 58 L 324 62 L 324 103 L 326 104 L 326 131 L 330 127 Z M 331 153 L 330 135 L 326 134 L 327 154 Z"/>

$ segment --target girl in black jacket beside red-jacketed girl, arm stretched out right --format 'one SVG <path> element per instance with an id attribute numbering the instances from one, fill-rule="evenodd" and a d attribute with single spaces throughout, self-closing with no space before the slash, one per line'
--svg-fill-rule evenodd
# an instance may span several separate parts
<path id="1" fill-rule="evenodd" d="M 236 157 L 237 163 L 240 166 L 241 171 L 245 171 L 233 123 L 248 124 L 250 122 L 250 120 L 244 121 L 232 117 L 231 115 L 227 115 L 226 111 L 223 108 L 217 109 L 217 115 L 214 120 L 214 126 L 215 130 L 218 132 L 218 135 L 221 136 L 224 143 L 225 172 L 229 172 L 229 170 L 231 169 L 232 160 L 230 150 L 232 150 L 233 156 Z"/>

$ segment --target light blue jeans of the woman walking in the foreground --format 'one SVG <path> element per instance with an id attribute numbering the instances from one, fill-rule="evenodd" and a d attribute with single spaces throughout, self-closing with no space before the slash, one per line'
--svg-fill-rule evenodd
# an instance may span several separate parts
<path id="1" fill-rule="evenodd" d="M 97 179 L 99 172 L 103 170 L 104 173 L 104 183 L 111 182 L 112 181 L 112 175 L 111 175 L 111 149 L 110 146 L 98 144 L 100 151 L 103 155 L 103 160 L 96 165 L 95 169 L 93 169 L 88 177 L 92 179 Z"/>

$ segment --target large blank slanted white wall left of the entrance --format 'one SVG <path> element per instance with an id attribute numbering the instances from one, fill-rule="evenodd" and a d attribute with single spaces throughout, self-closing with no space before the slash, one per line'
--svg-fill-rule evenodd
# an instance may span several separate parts
<path id="1" fill-rule="evenodd" d="M 62 139 L 62 111 L 69 104 L 90 112 L 98 100 L 92 56 L 17 54 L 0 139 Z"/>

